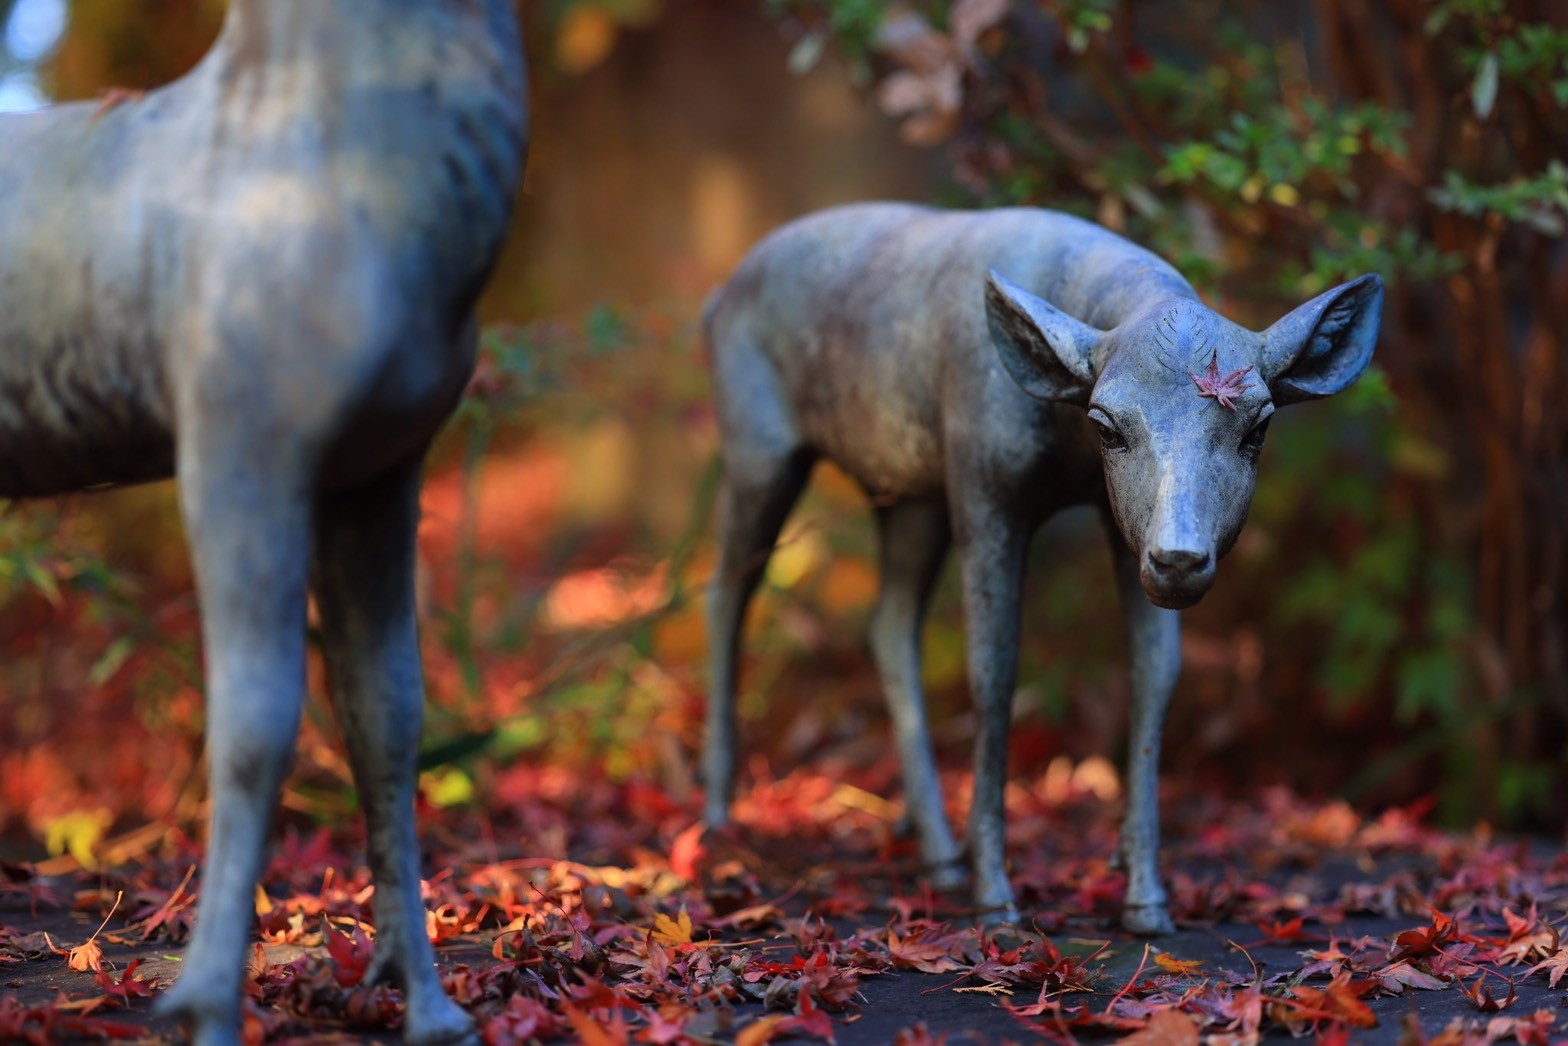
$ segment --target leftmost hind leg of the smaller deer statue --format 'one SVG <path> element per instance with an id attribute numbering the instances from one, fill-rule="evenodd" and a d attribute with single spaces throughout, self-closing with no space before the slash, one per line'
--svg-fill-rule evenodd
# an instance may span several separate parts
<path id="1" fill-rule="evenodd" d="M 735 687 L 746 605 L 809 475 L 811 458 L 801 450 L 735 453 L 726 447 L 724 483 L 718 494 L 718 572 L 707 597 L 712 671 L 702 779 L 707 789 L 704 819 L 710 828 L 729 823 L 735 790 Z"/>

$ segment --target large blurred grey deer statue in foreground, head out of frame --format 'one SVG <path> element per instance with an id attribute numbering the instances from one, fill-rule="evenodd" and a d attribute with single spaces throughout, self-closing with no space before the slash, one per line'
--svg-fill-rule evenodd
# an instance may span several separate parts
<path id="1" fill-rule="evenodd" d="M 0 496 L 174 475 L 201 597 L 212 817 L 163 1001 L 240 1037 L 314 587 L 405 1038 L 472 1037 L 414 834 L 420 464 L 475 354 L 527 152 L 513 0 L 232 0 L 183 80 L 0 118 Z"/>

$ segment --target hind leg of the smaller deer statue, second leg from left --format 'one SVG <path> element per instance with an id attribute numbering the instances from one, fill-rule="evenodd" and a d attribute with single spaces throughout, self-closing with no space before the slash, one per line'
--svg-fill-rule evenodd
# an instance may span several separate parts
<path id="1" fill-rule="evenodd" d="M 964 881 L 958 844 L 942 809 L 942 783 L 920 679 L 920 624 L 942 569 L 952 533 L 947 507 L 903 502 L 878 510 L 881 593 L 872 612 L 872 656 L 892 712 L 903 770 L 905 819 L 920 837 L 920 856 L 939 889 Z"/>

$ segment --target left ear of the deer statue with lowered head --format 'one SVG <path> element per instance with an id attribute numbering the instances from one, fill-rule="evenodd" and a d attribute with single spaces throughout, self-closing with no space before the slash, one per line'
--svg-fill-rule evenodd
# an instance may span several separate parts
<path id="1" fill-rule="evenodd" d="M 1105 336 L 996 270 L 986 274 L 986 323 L 1007 373 L 1032 397 L 1088 403 L 1094 345 Z"/>

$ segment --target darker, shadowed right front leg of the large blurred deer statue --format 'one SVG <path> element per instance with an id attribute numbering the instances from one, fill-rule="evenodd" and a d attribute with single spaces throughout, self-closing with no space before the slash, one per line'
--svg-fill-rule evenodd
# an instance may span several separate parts
<path id="1" fill-rule="evenodd" d="M 403 1040 L 472 1038 L 447 997 L 425 932 L 414 787 L 425 707 L 414 610 L 420 459 L 317 508 L 315 593 L 332 706 L 365 812 L 376 884 L 376 946 L 367 980 L 403 988 Z"/>

